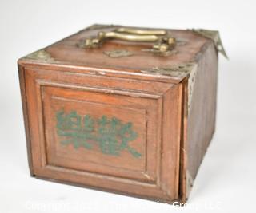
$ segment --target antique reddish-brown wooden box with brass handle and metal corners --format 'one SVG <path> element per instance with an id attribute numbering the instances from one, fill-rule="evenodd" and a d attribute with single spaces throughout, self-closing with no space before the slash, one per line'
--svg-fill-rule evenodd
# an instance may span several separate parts
<path id="1" fill-rule="evenodd" d="M 221 48 L 214 31 L 94 25 L 19 59 L 31 176 L 186 202 Z"/>

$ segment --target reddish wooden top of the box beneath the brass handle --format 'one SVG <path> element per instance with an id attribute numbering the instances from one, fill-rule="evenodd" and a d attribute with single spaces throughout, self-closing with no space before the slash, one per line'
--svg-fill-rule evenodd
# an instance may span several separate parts
<path id="1" fill-rule="evenodd" d="M 116 70 L 139 75 L 158 75 L 181 81 L 209 44 L 210 38 L 193 30 L 166 30 L 176 39 L 174 49 L 164 54 L 150 51 L 152 43 L 110 40 L 98 48 L 86 49 L 86 38 L 100 31 L 110 32 L 121 26 L 93 25 L 66 37 L 44 49 L 23 57 L 20 61 L 33 64 L 64 65 L 80 68 Z M 152 30 L 149 28 L 136 28 Z M 154 29 L 155 30 L 155 29 Z"/>

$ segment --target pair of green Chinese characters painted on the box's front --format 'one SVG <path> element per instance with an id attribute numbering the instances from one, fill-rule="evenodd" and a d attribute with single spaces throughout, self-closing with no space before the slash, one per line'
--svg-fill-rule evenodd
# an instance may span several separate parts
<path id="1" fill-rule="evenodd" d="M 65 114 L 63 110 L 56 113 L 56 118 L 57 134 L 65 137 L 65 140 L 61 140 L 62 144 L 73 144 L 74 148 L 88 149 L 94 144 L 107 155 L 119 156 L 122 150 L 127 150 L 134 157 L 142 156 L 129 145 L 129 142 L 138 136 L 130 122 L 122 124 L 122 121 L 115 117 L 108 119 L 102 116 L 94 124 L 90 115 L 80 116 L 75 111 Z"/>

